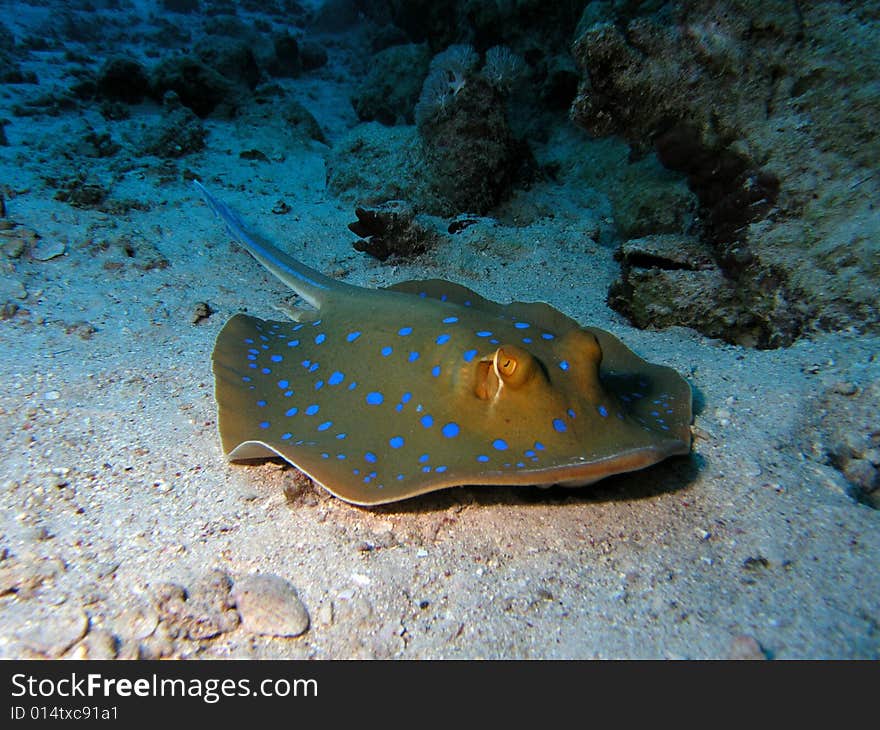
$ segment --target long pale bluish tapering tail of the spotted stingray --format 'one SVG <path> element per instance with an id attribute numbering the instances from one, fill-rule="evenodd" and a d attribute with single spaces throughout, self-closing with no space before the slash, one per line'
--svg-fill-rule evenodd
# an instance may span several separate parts
<path id="1" fill-rule="evenodd" d="M 324 276 L 310 266 L 297 261 L 272 245 L 266 238 L 249 228 L 241 217 L 226 203 L 211 195 L 197 180 L 193 181 L 205 201 L 226 224 L 229 234 L 250 254 L 287 286 L 313 307 L 320 308 L 334 289 L 348 285 Z"/>

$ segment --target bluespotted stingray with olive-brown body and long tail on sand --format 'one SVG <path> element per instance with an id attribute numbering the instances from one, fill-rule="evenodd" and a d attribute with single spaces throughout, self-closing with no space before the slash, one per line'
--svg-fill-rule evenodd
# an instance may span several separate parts
<path id="1" fill-rule="evenodd" d="M 198 185 L 198 183 L 196 183 Z M 236 314 L 213 365 L 223 450 L 375 505 L 457 485 L 581 486 L 690 450 L 691 390 L 548 304 L 448 281 L 365 289 L 287 256 L 198 185 L 314 309 Z"/>

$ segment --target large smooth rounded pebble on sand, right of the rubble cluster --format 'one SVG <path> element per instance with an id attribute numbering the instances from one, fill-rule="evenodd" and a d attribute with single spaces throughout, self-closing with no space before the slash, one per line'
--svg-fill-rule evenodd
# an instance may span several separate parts
<path id="1" fill-rule="evenodd" d="M 309 614 L 293 585 L 278 575 L 251 574 L 235 581 L 232 599 L 244 629 L 264 636 L 299 636 Z"/>

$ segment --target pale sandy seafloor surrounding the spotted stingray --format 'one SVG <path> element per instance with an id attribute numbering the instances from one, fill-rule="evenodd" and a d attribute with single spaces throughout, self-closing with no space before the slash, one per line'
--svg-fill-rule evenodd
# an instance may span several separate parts
<path id="1" fill-rule="evenodd" d="M 57 73 L 50 58 L 29 67 L 43 85 Z M 338 70 L 284 83 L 329 145 L 357 123 Z M 25 91 L 7 87 L 4 107 Z M 144 103 L 129 124 L 156 114 Z M 470 240 L 381 264 L 352 248 L 352 202 L 326 189 L 329 146 L 211 118 L 207 148 L 181 167 L 295 257 L 363 286 L 439 277 L 499 301 L 547 301 L 695 389 L 690 457 L 579 489 L 455 488 L 353 507 L 297 483 L 290 467 L 229 464 L 220 450 L 214 337 L 245 308 L 277 317 L 283 286 L 230 245 L 190 184 L 159 184 L 155 158 L 114 183 L 114 195 L 148 201 L 149 212 L 54 200 L 42 178 L 52 145 L 84 121 L 106 127 L 95 110 L 10 120 L 7 215 L 66 253 L 2 274 L 27 298 L 0 322 L 0 656 L 880 655 L 880 514 L 809 457 L 804 432 L 819 393 L 878 377 L 877 338 L 823 334 L 758 351 L 632 328 L 605 302 L 615 242 L 589 238 L 603 213 L 574 176 L 518 193 L 506 209 L 530 211 L 527 225 L 499 220 L 484 240 L 475 226 Z M 564 144 L 576 152 L 589 141 L 572 133 Z M 254 147 L 269 162 L 239 158 Z M 551 147 L 536 153 L 565 154 Z M 280 199 L 287 215 L 271 212 Z M 93 243 L 120 235 L 148 240 L 169 266 L 104 268 Z M 201 301 L 216 311 L 193 324 Z M 82 322 L 91 336 L 80 336 Z M 232 620 L 192 638 L 157 595 L 182 586 L 190 618 L 216 621 L 231 609 L 212 598 L 212 571 L 289 580 L 308 631 L 271 638 Z"/>

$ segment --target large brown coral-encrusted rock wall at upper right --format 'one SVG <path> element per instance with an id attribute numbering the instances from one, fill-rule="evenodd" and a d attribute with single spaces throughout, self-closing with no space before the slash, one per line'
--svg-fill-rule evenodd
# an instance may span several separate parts
<path id="1" fill-rule="evenodd" d="M 880 56 L 869 51 L 878 4 L 627 8 L 586 9 L 573 48 L 584 77 L 572 118 L 636 151 L 654 149 L 687 175 L 716 273 L 702 283 L 704 271 L 677 273 L 675 283 L 663 267 L 624 267 L 612 302 L 647 320 L 640 302 L 671 285 L 678 291 L 667 289 L 664 323 L 762 347 L 812 327 L 880 326 L 880 262 L 866 233 L 880 223 L 871 121 L 880 98 L 870 93 Z M 711 306 L 705 320 L 694 317 L 698 292 L 727 310 L 730 326 L 718 331 Z"/>

